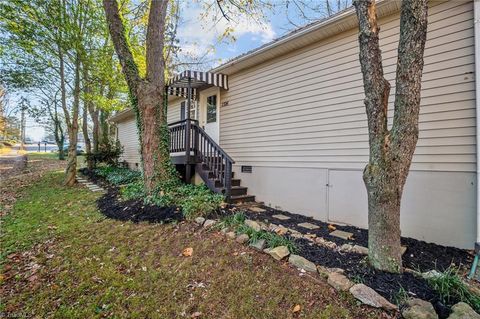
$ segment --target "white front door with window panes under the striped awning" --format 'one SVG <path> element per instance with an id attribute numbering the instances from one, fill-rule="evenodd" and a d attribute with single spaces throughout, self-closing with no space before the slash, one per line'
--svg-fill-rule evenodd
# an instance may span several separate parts
<path id="1" fill-rule="evenodd" d="M 220 140 L 220 94 L 218 88 L 200 93 L 200 125 L 217 144 Z"/>

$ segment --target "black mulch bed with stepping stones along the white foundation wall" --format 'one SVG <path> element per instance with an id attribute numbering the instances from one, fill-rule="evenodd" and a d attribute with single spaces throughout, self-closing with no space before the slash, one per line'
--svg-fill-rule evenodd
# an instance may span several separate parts
<path id="1" fill-rule="evenodd" d="M 335 242 L 337 245 L 351 244 L 368 246 L 368 231 L 354 226 L 335 225 L 336 229 L 353 233 L 353 240 L 344 240 L 330 235 L 328 223 L 314 220 L 304 215 L 292 214 L 285 211 L 276 210 L 270 207 L 262 206 L 265 212 L 246 211 L 248 218 L 254 220 L 265 221 L 277 225 L 283 225 L 287 228 L 297 230 L 301 233 L 315 234 L 326 240 Z M 272 215 L 282 214 L 290 217 L 288 220 L 279 220 L 273 218 Z M 319 229 L 310 230 L 299 227 L 299 223 L 312 223 L 320 226 Z M 299 255 L 329 268 L 342 268 L 345 274 L 354 282 L 362 282 L 373 288 L 383 297 L 392 303 L 397 303 L 400 297 L 399 291 L 405 291 L 410 297 L 420 298 L 430 301 L 437 311 L 440 318 L 447 318 L 451 312 L 450 307 L 459 300 L 452 300 L 449 305 L 444 305 L 438 294 L 428 285 L 426 280 L 415 276 L 411 272 L 403 274 L 392 274 L 373 269 L 368 265 L 367 257 L 356 253 L 341 253 L 332 249 L 322 247 L 306 239 L 295 240 L 299 247 Z M 407 246 L 407 251 L 403 255 L 404 267 L 419 270 L 422 272 L 429 270 L 447 269 L 450 265 L 457 267 L 468 267 L 473 260 L 472 254 L 468 251 L 454 248 L 444 247 L 413 238 L 403 238 L 402 245 Z"/>

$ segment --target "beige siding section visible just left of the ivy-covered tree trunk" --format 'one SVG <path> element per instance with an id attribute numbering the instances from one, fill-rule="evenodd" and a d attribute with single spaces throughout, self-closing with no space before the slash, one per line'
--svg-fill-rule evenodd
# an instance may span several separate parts
<path id="1" fill-rule="evenodd" d="M 123 146 L 121 161 L 129 163 L 131 168 L 135 168 L 138 163 L 140 167 L 140 144 L 138 143 L 137 123 L 132 116 L 122 122 L 117 123 L 118 141 Z"/>

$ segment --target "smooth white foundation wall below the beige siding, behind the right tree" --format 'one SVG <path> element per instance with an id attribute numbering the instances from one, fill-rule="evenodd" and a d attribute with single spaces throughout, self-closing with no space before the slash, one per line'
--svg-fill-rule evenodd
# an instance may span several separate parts
<path id="1" fill-rule="evenodd" d="M 368 228 L 361 170 L 253 166 L 235 177 L 265 205 L 322 221 Z M 475 242 L 476 177 L 411 171 L 402 198 L 402 236 L 459 248 Z"/>

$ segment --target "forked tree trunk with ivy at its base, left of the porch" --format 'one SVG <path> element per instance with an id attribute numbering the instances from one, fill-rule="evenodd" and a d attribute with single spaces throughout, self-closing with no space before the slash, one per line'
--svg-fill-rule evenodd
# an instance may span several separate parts
<path id="1" fill-rule="evenodd" d="M 146 191 L 152 193 L 175 182 L 177 175 L 170 160 L 165 96 L 165 28 L 169 1 L 149 2 L 146 30 L 146 74 L 141 76 L 126 36 L 123 14 L 117 0 L 103 0 L 115 51 L 127 81 L 131 105 L 136 114 Z"/>

